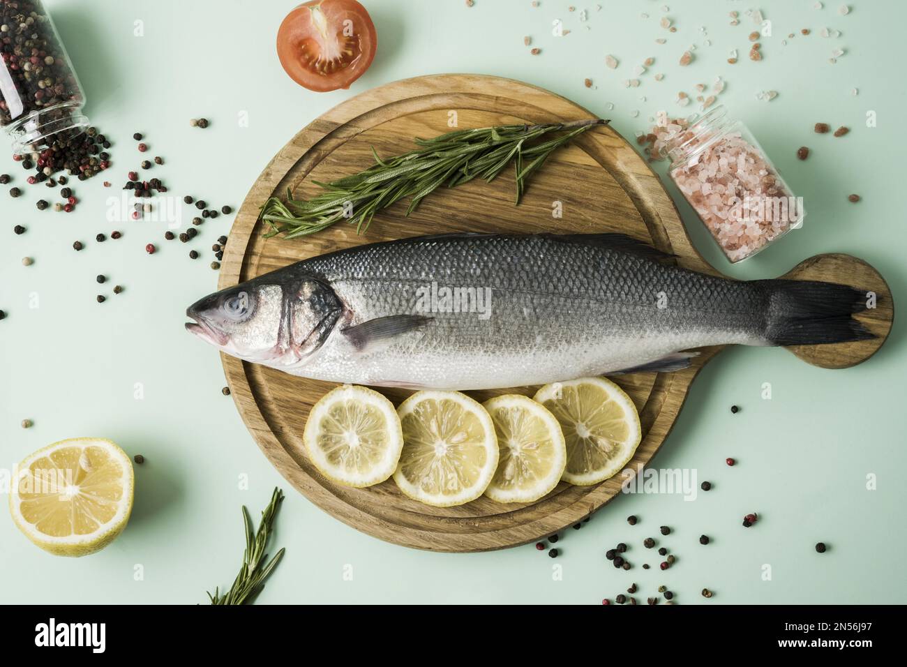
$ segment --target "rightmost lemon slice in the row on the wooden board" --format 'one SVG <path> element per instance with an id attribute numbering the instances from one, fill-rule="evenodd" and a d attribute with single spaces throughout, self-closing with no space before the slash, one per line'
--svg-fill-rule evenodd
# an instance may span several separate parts
<path id="1" fill-rule="evenodd" d="M 589 486 L 616 475 L 639 446 L 639 413 L 623 389 L 605 378 L 545 385 L 535 395 L 561 424 L 567 442 L 565 482 Z"/>

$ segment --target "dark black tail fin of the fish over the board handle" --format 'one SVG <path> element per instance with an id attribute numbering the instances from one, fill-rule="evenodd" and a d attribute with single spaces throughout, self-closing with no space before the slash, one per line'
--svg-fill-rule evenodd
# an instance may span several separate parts
<path id="1" fill-rule="evenodd" d="M 771 345 L 823 345 L 875 338 L 851 317 L 866 309 L 865 290 L 816 280 L 756 280 L 768 290 Z"/>

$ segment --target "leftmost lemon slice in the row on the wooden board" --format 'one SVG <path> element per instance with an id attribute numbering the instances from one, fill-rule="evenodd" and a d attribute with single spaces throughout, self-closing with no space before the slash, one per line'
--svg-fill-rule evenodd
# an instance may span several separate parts
<path id="1" fill-rule="evenodd" d="M 308 415 L 303 441 L 318 471 L 346 486 L 373 486 L 393 475 L 403 447 L 394 404 L 366 387 L 327 392 Z"/>

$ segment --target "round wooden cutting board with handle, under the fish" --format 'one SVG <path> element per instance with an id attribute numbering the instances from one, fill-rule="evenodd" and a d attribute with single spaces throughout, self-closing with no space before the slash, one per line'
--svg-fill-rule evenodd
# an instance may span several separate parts
<path id="1" fill-rule="evenodd" d="M 312 181 L 333 181 L 373 163 L 372 147 L 388 156 L 412 150 L 414 137 L 503 123 L 551 123 L 594 117 L 575 103 L 526 83 L 491 76 L 448 74 L 408 79 L 375 88 L 336 106 L 299 132 L 262 172 L 239 211 L 224 256 L 220 288 L 249 280 L 330 250 L 446 231 L 619 231 L 677 256 L 689 269 L 717 273 L 690 244 L 668 193 L 639 154 L 610 127 L 580 136 L 551 155 L 513 205 L 513 172 L 492 183 L 471 181 L 442 189 L 422 201 L 409 218 L 407 202 L 375 217 L 368 231 L 349 226 L 297 240 L 264 239 L 258 210 L 272 195 L 318 191 Z M 800 275 L 800 272 L 803 275 Z M 827 368 L 869 357 L 891 327 L 891 295 L 881 277 L 859 260 L 825 255 L 807 260 L 787 277 L 838 280 L 879 294 L 879 308 L 861 319 L 879 338 L 854 344 L 798 348 L 797 356 Z M 644 466 L 658 451 L 678 416 L 688 387 L 707 359 L 676 373 L 616 378 L 639 408 L 643 439 L 629 468 Z M 393 481 L 366 489 L 338 486 L 312 466 L 302 444 L 312 405 L 333 387 L 222 355 L 229 386 L 252 436 L 280 473 L 312 502 L 369 535 L 434 551 L 471 552 L 514 546 L 551 535 L 607 503 L 620 490 L 615 476 L 596 486 L 561 483 L 527 505 L 480 498 L 467 505 L 436 508 L 402 495 Z M 792 363 L 798 363 L 792 360 Z M 381 389 L 395 405 L 410 392 Z M 467 392 L 479 401 L 500 391 Z M 515 389 L 532 396 L 533 387 Z"/>

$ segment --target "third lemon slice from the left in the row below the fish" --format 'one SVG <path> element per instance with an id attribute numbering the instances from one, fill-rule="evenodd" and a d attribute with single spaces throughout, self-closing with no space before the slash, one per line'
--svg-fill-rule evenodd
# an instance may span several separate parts
<path id="1" fill-rule="evenodd" d="M 498 436 L 498 468 L 485 495 L 499 503 L 532 503 L 558 486 L 567 447 L 554 415 L 532 398 L 509 394 L 485 401 Z"/>

